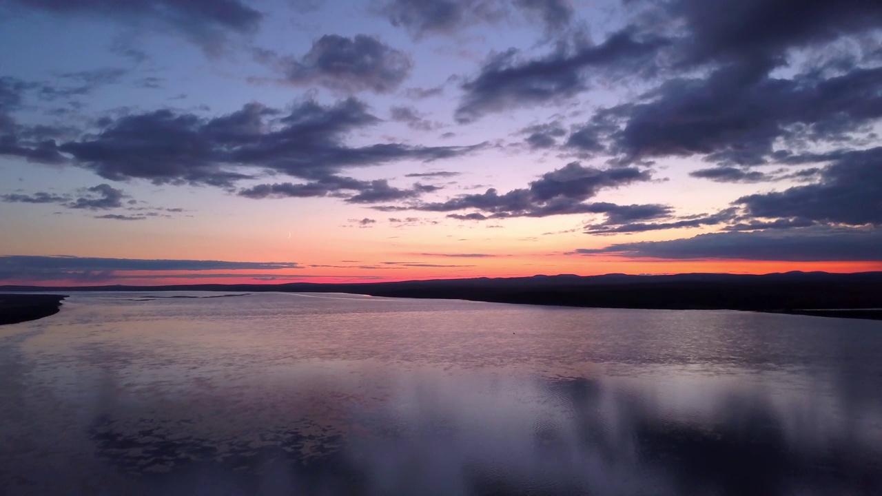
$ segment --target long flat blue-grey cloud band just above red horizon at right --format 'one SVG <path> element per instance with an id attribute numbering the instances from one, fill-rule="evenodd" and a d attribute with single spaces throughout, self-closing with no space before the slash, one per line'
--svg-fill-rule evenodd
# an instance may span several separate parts
<path id="1" fill-rule="evenodd" d="M 649 259 L 882 261 L 882 231 L 803 228 L 725 232 L 670 241 L 611 244 L 574 253 Z"/>

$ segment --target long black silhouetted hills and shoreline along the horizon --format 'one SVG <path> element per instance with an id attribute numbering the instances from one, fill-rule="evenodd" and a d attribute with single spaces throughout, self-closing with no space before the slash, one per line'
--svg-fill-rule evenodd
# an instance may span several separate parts
<path id="1" fill-rule="evenodd" d="M 182 284 L 174 286 L 0 286 L 0 291 L 287 291 L 378 297 L 465 299 L 514 304 L 788 312 L 882 308 L 882 272 L 828 274 L 675 274 L 437 279 L 321 284 Z"/>

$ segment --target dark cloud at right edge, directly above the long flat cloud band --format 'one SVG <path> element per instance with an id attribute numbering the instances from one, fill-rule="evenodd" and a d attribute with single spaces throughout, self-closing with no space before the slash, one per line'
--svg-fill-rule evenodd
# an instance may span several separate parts
<path id="1" fill-rule="evenodd" d="M 737 199 L 744 213 L 759 218 L 882 226 L 882 147 L 827 154 L 833 163 L 818 184 Z"/>

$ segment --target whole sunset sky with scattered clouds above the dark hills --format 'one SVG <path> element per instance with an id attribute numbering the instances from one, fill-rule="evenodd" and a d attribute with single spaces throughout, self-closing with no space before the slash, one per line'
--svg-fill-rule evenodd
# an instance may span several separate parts
<path id="1" fill-rule="evenodd" d="M 0 0 L 0 284 L 882 270 L 882 4 Z"/>

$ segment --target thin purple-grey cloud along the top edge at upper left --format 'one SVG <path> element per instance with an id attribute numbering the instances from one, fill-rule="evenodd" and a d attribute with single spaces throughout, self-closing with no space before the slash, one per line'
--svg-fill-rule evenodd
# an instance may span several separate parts
<path id="1" fill-rule="evenodd" d="M 228 34 L 255 31 L 262 14 L 239 0 L 10 0 L 22 9 L 59 15 L 87 15 L 129 25 L 169 27 L 197 42 L 207 53 L 221 52 Z"/>

